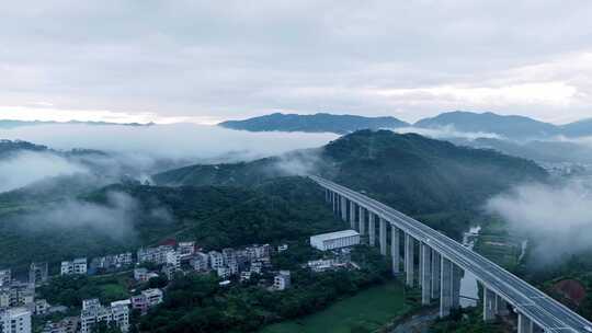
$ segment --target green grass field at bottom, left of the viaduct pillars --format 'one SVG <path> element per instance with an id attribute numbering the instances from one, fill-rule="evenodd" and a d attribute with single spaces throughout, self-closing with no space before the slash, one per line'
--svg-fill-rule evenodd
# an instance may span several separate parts
<path id="1" fill-rule="evenodd" d="M 321 312 L 273 324 L 259 333 L 372 332 L 408 310 L 403 287 L 390 282 L 342 299 Z"/>

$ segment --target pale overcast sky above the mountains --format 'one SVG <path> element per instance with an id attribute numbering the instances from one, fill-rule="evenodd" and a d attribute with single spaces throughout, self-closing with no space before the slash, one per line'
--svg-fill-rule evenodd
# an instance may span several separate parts
<path id="1" fill-rule="evenodd" d="M 592 117 L 592 1 L 2 1 L 0 118 Z"/>

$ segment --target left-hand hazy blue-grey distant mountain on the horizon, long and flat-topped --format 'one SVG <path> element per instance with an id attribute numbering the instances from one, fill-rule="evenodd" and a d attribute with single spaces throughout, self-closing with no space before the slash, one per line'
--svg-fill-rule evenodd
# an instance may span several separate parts
<path id="1" fill-rule="evenodd" d="M 397 128 L 409 126 L 394 117 L 363 117 L 355 115 L 333 115 L 317 113 L 314 115 L 274 113 L 244 120 L 229 120 L 218 124 L 231 129 L 250 131 L 330 131 L 345 134 L 358 129 Z"/>

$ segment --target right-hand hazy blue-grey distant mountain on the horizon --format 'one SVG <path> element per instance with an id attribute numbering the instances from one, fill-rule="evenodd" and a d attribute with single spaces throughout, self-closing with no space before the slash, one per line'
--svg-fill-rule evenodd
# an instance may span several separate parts
<path id="1" fill-rule="evenodd" d="M 542 138 L 560 134 L 560 128 L 523 116 L 502 116 L 494 113 L 455 111 L 424 118 L 417 127 L 439 128 L 452 126 L 459 131 L 493 133 L 506 138 Z"/>

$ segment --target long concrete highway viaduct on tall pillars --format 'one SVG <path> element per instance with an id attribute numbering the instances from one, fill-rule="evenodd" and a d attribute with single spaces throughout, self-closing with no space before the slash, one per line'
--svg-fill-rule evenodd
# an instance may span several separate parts
<path id="1" fill-rule="evenodd" d="M 520 333 L 592 333 L 588 320 L 457 241 L 361 193 L 309 177 L 325 188 L 335 214 L 367 234 L 371 246 L 391 257 L 394 275 L 402 276 L 408 286 L 421 287 L 422 303 L 440 301 L 441 317 L 460 306 L 460 278 L 466 271 L 483 287 L 486 321 L 513 310 Z"/>

